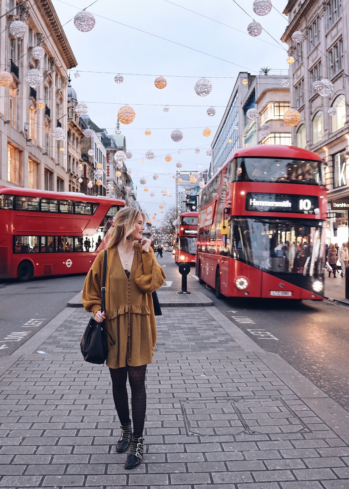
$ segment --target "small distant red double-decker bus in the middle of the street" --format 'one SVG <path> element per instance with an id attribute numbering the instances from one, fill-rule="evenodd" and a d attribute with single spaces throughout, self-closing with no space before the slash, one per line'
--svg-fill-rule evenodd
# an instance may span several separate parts
<path id="1" fill-rule="evenodd" d="M 176 263 L 196 263 L 198 212 L 183 212 L 179 216 L 174 243 Z"/>

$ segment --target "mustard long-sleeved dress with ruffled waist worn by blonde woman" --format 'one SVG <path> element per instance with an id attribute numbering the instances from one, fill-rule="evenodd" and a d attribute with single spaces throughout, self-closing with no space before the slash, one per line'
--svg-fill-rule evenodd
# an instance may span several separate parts
<path id="1" fill-rule="evenodd" d="M 103 258 L 104 250 L 94 260 L 82 294 L 86 311 L 93 314 L 101 308 Z M 156 323 L 151 293 L 163 285 L 165 278 L 152 248 L 145 252 L 135 244 L 129 277 L 117 246 L 108 249 L 105 327 L 115 341 L 115 345 L 109 342 L 108 367 L 137 367 L 152 362 Z"/>

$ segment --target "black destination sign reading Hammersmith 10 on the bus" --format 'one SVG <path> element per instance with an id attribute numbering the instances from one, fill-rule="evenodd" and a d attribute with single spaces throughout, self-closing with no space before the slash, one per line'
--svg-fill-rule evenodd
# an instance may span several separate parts
<path id="1" fill-rule="evenodd" d="M 314 195 L 246 194 L 246 210 L 250 212 L 292 212 L 308 214 L 319 207 Z"/>

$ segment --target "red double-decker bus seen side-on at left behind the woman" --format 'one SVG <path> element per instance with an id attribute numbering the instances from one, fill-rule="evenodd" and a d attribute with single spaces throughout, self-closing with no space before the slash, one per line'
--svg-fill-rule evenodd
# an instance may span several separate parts
<path id="1" fill-rule="evenodd" d="M 0 186 L 0 278 L 89 270 L 122 200 Z"/>

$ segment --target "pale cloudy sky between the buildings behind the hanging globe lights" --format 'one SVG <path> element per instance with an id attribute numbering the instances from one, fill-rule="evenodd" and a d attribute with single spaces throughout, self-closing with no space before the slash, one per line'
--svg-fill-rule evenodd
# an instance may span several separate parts
<path id="1" fill-rule="evenodd" d="M 92 1 L 52 0 L 62 24 Z M 258 38 L 249 36 L 247 25 L 252 20 L 237 4 L 276 41 L 265 31 Z M 134 122 L 121 125 L 120 129 L 126 136 L 127 150 L 133 154 L 127 166 L 133 170 L 137 198 L 144 202 L 149 214 L 160 214 L 159 204 L 163 201 L 166 208 L 174 204 L 175 180 L 167 175 L 176 171 L 177 161 L 182 161 L 182 169 L 188 171 L 199 170 L 199 164 L 202 169 L 209 167 L 206 149 L 238 72 L 247 70 L 254 75 L 261 67 L 288 68 L 287 45 L 279 41 L 287 25 L 285 16 L 279 13 L 286 1 L 273 0 L 275 8 L 265 17 L 256 16 L 252 4 L 253 0 L 98 0 L 87 9 L 95 15 L 92 31 L 79 32 L 72 21 L 64 26 L 78 61 L 76 69 L 81 73 L 78 79 L 71 73 L 71 84 L 78 101 L 88 103 L 95 124 L 114 133 L 118 109 L 128 104 L 136 111 Z M 114 82 L 116 73 L 123 74 L 121 85 Z M 164 89 L 154 86 L 154 79 L 160 75 L 167 80 Z M 196 80 L 202 77 L 212 84 L 207 97 L 199 97 L 194 91 Z M 169 107 L 167 113 L 163 112 L 165 105 Z M 206 113 L 210 106 L 216 108 L 213 117 Z M 212 130 L 212 136 L 203 136 L 206 127 Z M 150 136 L 144 134 L 147 128 L 152 131 Z M 177 128 L 184 134 L 179 143 L 170 138 L 171 131 Z M 195 147 L 201 149 L 200 154 L 194 153 Z M 182 155 L 178 155 L 178 149 L 183 150 Z M 141 162 L 147 150 L 154 151 L 157 161 Z M 164 160 L 166 154 L 173 158 L 170 163 Z M 153 180 L 154 173 L 160 174 L 159 180 Z M 144 192 L 139 184 L 141 177 L 147 179 L 149 192 Z M 172 198 L 162 197 L 163 188 L 168 188 Z M 155 192 L 154 198 L 149 195 L 151 191 Z"/>

